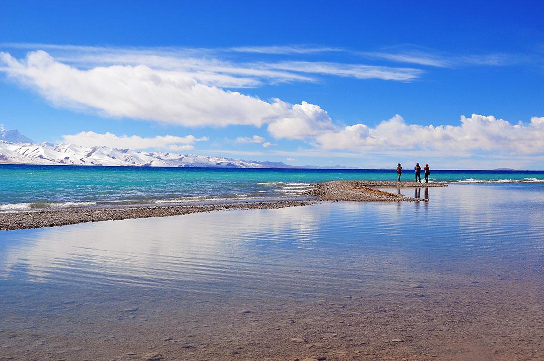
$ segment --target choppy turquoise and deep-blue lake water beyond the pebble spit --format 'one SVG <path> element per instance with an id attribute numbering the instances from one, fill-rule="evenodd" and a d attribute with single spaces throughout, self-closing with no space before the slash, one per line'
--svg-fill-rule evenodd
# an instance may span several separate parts
<path id="1" fill-rule="evenodd" d="M 413 172 L 405 170 L 403 180 Z M 0 210 L 296 196 L 313 183 L 395 181 L 392 170 L 0 165 Z M 433 170 L 431 182 L 544 182 L 544 171 Z"/>

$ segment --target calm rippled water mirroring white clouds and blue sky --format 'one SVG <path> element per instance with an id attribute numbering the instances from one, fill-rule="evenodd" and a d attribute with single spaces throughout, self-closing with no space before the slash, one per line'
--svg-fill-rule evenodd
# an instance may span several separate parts
<path id="1" fill-rule="evenodd" d="M 338 202 L 2 232 L 0 287 L 318 297 L 422 274 L 508 276 L 542 264 L 544 185 L 431 192 L 424 208 Z"/>

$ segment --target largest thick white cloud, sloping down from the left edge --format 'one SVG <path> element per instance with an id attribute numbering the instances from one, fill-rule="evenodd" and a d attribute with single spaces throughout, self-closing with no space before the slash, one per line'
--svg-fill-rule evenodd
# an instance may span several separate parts
<path id="1" fill-rule="evenodd" d="M 44 51 L 24 60 L 0 53 L 9 77 L 36 89 L 55 105 L 90 108 L 111 117 L 131 117 L 190 127 L 321 122 L 324 110 L 305 102 L 291 105 L 197 82 L 186 73 L 145 65 L 113 65 L 81 70 Z M 326 114 L 326 113 L 325 113 Z"/>

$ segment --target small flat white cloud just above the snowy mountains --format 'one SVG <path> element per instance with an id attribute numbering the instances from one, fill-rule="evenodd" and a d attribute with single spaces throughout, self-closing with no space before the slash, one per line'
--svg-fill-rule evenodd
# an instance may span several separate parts
<path id="1" fill-rule="evenodd" d="M 112 133 L 99 134 L 95 132 L 80 132 L 73 135 L 63 135 L 64 142 L 77 144 L 86 147 L 108 146 L 112 148 L 130 148 L 134 150 L 158 148 L 170 150 L 191 150 L 194 148 L 192 144 L 197 141 L 207 141 L 206 136 L 196 138 L 193 135 L 174 136 L 174 135 L 157 135 L 151 138 L 142 138 L 138 135 L 121 135 L 117 136 Z"/>

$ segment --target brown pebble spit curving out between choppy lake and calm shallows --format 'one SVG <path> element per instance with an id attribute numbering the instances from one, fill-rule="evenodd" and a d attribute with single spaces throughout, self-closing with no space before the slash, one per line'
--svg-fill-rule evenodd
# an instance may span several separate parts
<path id="1" fill-rule="evenodd" d="M 386 182 L 386 181 L 331 181 L 317 184 L 312 190 L 301 194 L 311 196 L 306 200 L 263 200 L 237 201 L 231 203 L 190 204 L 172 206 L 139 207 L 72 207 L 63 209 L 21 210 L 1 213 L 0 231 L 15 229 L 44 228 L 75 225 L 77 223 L 116 221 L 150 217 L 168 217 L 225 210 L 277 209 L 310 206 L 322 201 L 353 202 L 427 202 L 423 198 L 413 198 L 375 189 L 391 188 L 429 188 L 443 187 L 442 183 Z M 372 187 L 372 188 L 371 188 Z"/>

